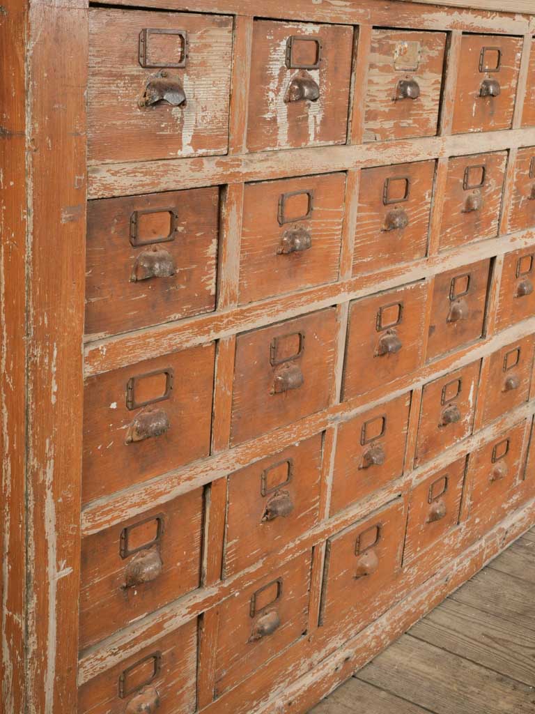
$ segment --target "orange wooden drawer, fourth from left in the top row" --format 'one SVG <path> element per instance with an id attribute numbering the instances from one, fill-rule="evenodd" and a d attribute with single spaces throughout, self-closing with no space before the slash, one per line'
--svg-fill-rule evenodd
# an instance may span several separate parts
<path id="1" fill-rule="evenodd" d="M 453 134 L 511 128 L 522 44 L 521 37 L 463 36 Z"/>

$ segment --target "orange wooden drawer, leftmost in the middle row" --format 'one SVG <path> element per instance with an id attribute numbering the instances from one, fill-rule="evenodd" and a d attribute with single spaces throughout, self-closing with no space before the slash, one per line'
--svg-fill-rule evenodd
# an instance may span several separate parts
<path id="1" fill-rule="evenodd" d="M 210 343 L 86 381 L 83 503 L 208 456 L 214 359 Z"/>

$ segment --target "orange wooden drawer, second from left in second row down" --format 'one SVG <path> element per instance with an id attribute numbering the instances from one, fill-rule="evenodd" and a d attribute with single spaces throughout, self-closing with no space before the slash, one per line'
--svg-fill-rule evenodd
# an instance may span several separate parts
<path id="1" fill-rule="evenodd" d="M 344 196 L 345 174 L 245 186 L 240 304 L 337 280 Z"/>

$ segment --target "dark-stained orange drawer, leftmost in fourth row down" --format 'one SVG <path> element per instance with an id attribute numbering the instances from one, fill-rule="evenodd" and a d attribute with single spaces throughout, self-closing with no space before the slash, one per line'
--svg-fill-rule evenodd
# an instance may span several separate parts
<path id="1" fill-rule="evenodd" d="M 198 488 L 83 538 L 81 649 L 199 587 L 202 521 Z"/>

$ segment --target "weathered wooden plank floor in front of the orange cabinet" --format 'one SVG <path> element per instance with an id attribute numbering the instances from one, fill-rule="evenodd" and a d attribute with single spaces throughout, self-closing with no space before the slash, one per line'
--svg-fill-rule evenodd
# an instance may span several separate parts
<path id="1" fill-rule="evenodd" d="M 312 712 L 535 714 L 535 528 Z"/>

